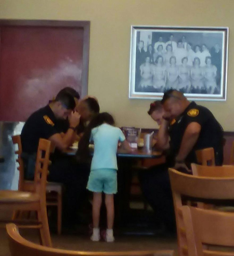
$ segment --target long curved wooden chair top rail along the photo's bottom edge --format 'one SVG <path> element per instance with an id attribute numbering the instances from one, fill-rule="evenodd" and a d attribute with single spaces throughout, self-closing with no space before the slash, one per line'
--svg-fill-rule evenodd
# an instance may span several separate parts
<path id="1" fill-rule="evenodd" d="M 13 223 L 6 225 L 11 256 L 173 256 L 172 250 L 145 250 L 145 251 L 70 251 L 63 249 L 48 248 L 27 241 L 20 236 L 17 227 Z"/>

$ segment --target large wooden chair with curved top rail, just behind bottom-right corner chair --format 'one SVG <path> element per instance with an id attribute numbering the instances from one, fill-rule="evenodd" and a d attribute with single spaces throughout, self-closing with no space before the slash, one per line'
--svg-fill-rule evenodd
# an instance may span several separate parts
<path id="1" fill-rule="evenodd" d="M 188 255 L 188 248 L 183 246 L 186 235 L 182 212 L 179 210 L 183 197 L 194 202 L 205 199 L 234 200 L 234 177 L 200 177 L 184 174 L 172 168 L 169 168 L 169 177 L 177 222 L 178 252 L 180 256 Z"/>

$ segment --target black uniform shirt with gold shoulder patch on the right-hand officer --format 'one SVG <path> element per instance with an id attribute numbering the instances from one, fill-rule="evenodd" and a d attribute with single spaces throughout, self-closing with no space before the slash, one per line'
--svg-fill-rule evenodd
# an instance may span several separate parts
<path id="1" fill-rule="evenodd" d="M 217 165 L 223 163 L 223 128 L 207 108 L 191 102 L 185 111 L 172 120 L 169 126 L 170 136 L 170 157 L 174 158 L 180 149 L 183 135 L 187 126 L 196 122 L 201 125 L 198 140 L 186 157 L 186 163 L 197 163 L 195 151 L 207 147 L 215 150 L 215 160 Z"/>

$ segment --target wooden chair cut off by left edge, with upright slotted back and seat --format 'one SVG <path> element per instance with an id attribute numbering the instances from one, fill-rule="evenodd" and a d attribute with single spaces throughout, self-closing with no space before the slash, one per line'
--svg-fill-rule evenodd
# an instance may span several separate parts
<path id="1" fill-rule="evenodd" d="M 48 174 L 49 155 L 52 150 L 49 140 L 40 139 L 38 144 L 34 176 L 34 192 L 0 190 L 0 210 L 36 211 L 38 221 L 20 221 L 22 228 L 36 228 L 40 231 L 41 244 L 51 247 L 45 187 Z M 4 221 L 12 222 L 12 220 Z"/>

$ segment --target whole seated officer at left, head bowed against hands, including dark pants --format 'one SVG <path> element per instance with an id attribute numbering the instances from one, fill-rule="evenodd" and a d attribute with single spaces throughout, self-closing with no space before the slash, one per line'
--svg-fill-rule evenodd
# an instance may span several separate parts
<path id="1" fill-rule="evenodd" d="M 22 133 L 22 149 L 27 164 L 26 179 L 33 179 L 35 156 L 39 138 L 48 139 L 55 145 L 55 152 L 51 156 L 52 164 L 49 167 L 49 181 L 61 182 L 65 185 L 65 205 L 68 219 L 76 216 L 78 199 L 84 198 L 83 192 L 88 179 L 88 171 L 84 170 L 71 156 L 63 154 L 74 141 L 76 127 L 80 122 L 80 114 L 73 112 L 76 103 L 74 97 L 67 92 L 59 92 L 47 106 L 34 112 L 26 121 Z M 67 131 L 61 135 L 61 120 L 69 120 Z M 80 202 L 80 201 L 79 201 Z M 68 214 L 69 213 L 69 214 Z"/>

